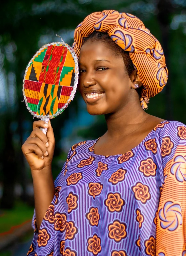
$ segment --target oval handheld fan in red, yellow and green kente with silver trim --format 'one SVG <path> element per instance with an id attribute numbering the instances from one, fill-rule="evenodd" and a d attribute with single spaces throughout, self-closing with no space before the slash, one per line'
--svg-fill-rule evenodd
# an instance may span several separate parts
<path id="1" fill-rule="evenodd" d="M 78 82 L 78 60 L 62 39 L 45 44 L 27 65 L 23 95 L 29 112 L 48 123 L 69 105 Z M 47 129 L 41 128 L 46 134 Z"/>

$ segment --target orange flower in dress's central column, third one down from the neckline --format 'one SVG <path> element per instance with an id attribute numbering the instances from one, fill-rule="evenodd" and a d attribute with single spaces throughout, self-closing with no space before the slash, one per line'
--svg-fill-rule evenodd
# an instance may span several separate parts
<path id="1" fill-rule="evenodd" d="M 125 201 L 121 198 L 119 193 L 109 193 L 104 203 L 108 207 L 109 212 L 121 212 L 125 205 Z"/>

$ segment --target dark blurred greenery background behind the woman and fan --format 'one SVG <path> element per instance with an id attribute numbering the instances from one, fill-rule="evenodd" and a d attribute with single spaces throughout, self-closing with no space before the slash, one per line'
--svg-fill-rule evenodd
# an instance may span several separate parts
<path id="1" fill-rule="evenodd" d="M 92 12 L 117 10 L 136 15 L 163 47 L 168 84 L 150 99 L 147 112 L 186 123 L 186 0 L 6 0 L 0 17 L 0 256 L 25 256 L 32 242 L 33 186 L 21 146 L 32 131 L 33 116 L 23 102 L 26 66 L 46 43 L 72 46 L 75 27 Z M 70 147 L 106 131 L 104 116 L 90 116 L 77 92 L 52 120 L 56 138 L 54 178 Z"/>

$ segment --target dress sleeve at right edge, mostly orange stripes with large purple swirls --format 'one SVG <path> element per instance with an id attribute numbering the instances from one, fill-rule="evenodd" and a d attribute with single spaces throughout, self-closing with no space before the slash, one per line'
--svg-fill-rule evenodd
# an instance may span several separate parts
<path id="1" fill-rule="evenodd" d="M 164 184 L 156 220 L 156 256 L 186 255 L 186 126 L 175 123 L 161 142 Z"/>

